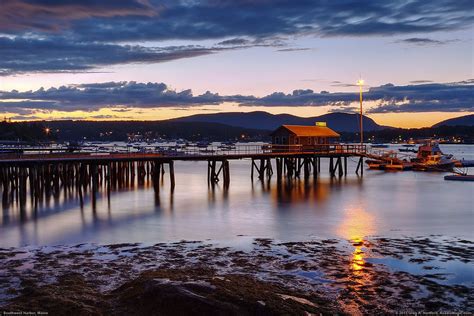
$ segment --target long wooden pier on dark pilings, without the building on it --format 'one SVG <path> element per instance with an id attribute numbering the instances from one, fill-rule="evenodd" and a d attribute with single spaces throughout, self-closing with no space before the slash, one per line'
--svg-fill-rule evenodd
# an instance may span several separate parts
<path id="1" fill-rule="evenodd" d="M 214 186 L 222 181 L 224 189 L 230 185 L 230 161 L 251 161 L 251 179 L 277 181 L 317 178 L 321 159 L 329 159 L 331 177 L 347 175 L 347 159 L 358 159 L 356 173 L 363 173 L 364 145 L 238 145 L 235 148 L 209 146 L 185 148 L 166 153 L 54 153 L 4 154 L 0 156 L 0 188 L 3 207 L 18 203 L 20 208 L 27 198 L 33 205 L 43 199 L 75 190 L 81 198 L 90 191 L 92 203 L 99 188 L 110 192 L 144 185 L 151 181 L 159 192 L 160 179 L 169 175 L 171 191 L 175 189 L 175 161 L 207 161 L 207 182 Z M 275 171 L 274 171 L 275 170 Z"/>

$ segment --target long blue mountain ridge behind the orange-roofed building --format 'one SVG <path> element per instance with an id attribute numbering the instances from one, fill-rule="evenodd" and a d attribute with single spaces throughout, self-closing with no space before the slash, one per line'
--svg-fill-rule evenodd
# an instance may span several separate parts
<path id="1" fill-rule="evenodd" d="M 270 114 L 267 112 L 229 112 L 213 114 L 196 114 L 169 120 L 172 122 L 206 122 L 221 123 L 243 128 L 274 130 L 283 124 L 288 125 L 314 125 L 315 122 L 326 122 L 327 125 L 338 132 L 359 131 L 359 115 L 347 113 L 329 113 L 314 117 L 299 117 L 291 114 Z M 364 116 L 364 131 L 377 131 L 386 128 L 375 123 L 374 120 Z"/>

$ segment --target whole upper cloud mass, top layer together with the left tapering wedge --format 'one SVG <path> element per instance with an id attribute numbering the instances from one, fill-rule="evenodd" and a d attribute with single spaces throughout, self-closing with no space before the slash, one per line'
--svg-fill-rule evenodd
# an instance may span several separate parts
<path id="1" fill-rule="evenodd" d="M 220 49 L 282 46 L 295 36 L 425 34 L 468 28 L 471 0 L 9 0 L 1 2 L 0 72 L 85 71 Z M 3 36 L 3 37 L 2 37 Z M 160 47 L 166 40 L 215 45 Z M 153 42 L 149 47 L 145 42 Z M 408 38 L 412 44 L 440 44 Z M 127 43 L 129 45 L 124 45 Z M 298 49 L 282 49 L 295 51 Z"/>

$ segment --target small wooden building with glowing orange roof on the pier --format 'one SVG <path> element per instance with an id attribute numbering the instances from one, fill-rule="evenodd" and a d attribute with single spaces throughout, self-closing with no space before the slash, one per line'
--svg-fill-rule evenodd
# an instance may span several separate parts
<path id="1" fill-rule="evenodd" d="M 303 146 L 330 144 L 340 137 L 323 122 L 317 122 L 314 126 L 282 125 L 270 135 L 272 144 Z"/>

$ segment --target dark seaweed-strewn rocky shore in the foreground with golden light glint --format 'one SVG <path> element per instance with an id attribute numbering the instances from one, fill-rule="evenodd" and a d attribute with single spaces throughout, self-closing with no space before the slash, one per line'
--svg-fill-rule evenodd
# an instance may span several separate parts
<path id="1" fill-rule="evenodd" d="M 0 312 L 472 313 L 473 259 L 473 242 L 440 236 L 0 249 Z"/>

